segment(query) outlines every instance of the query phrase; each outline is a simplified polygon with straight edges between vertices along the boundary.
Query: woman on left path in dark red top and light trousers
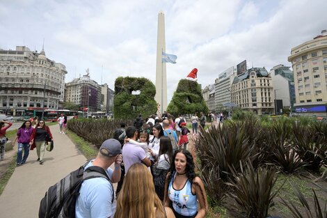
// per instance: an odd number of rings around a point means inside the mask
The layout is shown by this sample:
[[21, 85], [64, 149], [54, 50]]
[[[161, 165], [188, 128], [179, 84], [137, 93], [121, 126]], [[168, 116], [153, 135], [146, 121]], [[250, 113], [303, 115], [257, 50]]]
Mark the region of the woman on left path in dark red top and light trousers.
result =
[[38, 154], [37, 161], [39, 161], [41, 165], [43, 164], [43, 157], [45, 156], [45, 144], [47, 143], [45, 139], [47, 134], [51, 138], [51, 141], [54, 141], [50, 128], [45, 125], [45, 120], [40, 120], [31, 134], [29, 143], [31, 145], [31, 150], [36, 148], [36, 153]]

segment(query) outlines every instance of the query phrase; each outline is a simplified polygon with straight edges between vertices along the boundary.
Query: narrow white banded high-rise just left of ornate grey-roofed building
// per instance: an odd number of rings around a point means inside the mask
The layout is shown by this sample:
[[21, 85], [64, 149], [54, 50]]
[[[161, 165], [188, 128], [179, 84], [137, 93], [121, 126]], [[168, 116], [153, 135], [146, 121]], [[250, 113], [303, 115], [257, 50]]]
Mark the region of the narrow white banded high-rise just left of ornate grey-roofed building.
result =
[[[230, 67], [227, 70], [221, 72], [218, 78], [215, 80], [215, 111], [228, 111], [230, 108], [225, 105], [232, 102], [230, 95], [230, 86], [234, 73], [236, 72], [235, 67]], [[224, 105], [225, 104], [225, 105]]]

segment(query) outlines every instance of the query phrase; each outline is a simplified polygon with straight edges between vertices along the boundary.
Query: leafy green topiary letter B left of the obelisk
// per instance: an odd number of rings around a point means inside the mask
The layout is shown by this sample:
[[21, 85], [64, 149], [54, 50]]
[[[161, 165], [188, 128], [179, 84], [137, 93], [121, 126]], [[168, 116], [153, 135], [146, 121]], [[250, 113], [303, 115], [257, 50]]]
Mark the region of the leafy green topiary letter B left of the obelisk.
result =
[[115, 118], [148, 117], [157, 111], [156, 88], [152, 81], [138, 77], [118, 77], [115, 80], [113, 113]]

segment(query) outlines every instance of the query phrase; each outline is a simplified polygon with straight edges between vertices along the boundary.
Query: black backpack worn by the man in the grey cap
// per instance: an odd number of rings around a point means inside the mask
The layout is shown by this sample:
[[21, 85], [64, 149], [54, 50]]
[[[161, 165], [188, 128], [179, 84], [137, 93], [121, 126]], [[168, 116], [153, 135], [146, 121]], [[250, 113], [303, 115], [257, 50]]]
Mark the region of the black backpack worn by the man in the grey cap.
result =
[[[49, 187], [40, 202], [39, 218], [75, 217], [75, 204], [84, 180], [101, 177], [108, 180], [112, 187], [111, 180], [104, 169], [99, 166], [90, 166], [84, 171], [87, 164], [72, 171], [55, 185]], [[114, 196], [112, 196], [111, 203], [113, 203], [113, 198]]]

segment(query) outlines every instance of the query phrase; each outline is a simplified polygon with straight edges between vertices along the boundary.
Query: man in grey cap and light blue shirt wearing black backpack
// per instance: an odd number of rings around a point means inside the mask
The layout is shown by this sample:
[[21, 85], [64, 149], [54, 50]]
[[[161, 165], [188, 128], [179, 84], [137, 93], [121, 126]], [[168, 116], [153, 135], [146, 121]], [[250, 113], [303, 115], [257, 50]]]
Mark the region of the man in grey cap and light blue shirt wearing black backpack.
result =
[[[39, 218], [113, 217], [115, 196], [112, 182], [120, 180], [122, 148], [107, 139], [97, 157], [52, 185], [40, 202]], [[111, 164], [115, 163], [115, 169]]]

